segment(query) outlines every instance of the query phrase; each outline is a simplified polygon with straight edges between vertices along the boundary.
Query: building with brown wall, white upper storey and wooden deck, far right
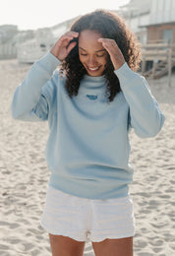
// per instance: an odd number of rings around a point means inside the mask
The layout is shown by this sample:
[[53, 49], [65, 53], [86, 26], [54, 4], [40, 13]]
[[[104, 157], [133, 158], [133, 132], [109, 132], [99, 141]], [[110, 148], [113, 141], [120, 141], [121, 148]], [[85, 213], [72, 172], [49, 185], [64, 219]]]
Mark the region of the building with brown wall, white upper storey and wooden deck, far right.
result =
[[151, 1], [149, 23], [145, 25], [147, 40], [143, 45], [142, 72], [154, 79], [165, 74], [170, 77], [175, 66], [174, 13], [174, 0]]

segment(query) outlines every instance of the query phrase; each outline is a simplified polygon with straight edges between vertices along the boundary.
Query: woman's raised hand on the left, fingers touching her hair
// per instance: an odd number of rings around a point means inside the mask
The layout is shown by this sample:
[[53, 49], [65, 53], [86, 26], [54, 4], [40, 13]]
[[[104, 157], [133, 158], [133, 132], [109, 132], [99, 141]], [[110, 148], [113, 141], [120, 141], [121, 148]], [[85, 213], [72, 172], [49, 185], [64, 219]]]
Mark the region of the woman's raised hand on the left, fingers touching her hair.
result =
[[[77, 42], [73, 41], [74, 37], [78, 37], [79, 32], [66, 32], [64, 33], [55, 45], [51, 48], [50, 52], [57, 57], [60, 61], [64, 60], [70, 51], [76, 46]], [[70, 44], [69, 44], [70, 43]]]

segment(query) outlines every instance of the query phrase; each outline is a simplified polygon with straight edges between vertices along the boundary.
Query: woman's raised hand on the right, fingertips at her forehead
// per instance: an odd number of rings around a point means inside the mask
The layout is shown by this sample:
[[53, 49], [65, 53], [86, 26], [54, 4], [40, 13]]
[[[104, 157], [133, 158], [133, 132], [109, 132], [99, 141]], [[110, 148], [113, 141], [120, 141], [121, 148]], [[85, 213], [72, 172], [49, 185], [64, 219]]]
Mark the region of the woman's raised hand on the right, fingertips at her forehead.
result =
[[119, 69], [125, 63], [125, 59], [116, 41], [108, 38], [99, 38], [98, 41], [109, 53], [114, 69]]

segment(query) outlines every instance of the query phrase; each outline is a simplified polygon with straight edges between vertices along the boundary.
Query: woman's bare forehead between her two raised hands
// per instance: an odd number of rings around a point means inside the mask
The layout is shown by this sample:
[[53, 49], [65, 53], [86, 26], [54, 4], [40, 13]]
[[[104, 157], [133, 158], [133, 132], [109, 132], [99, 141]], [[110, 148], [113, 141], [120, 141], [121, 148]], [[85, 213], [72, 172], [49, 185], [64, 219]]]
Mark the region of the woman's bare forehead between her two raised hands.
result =
[[83, 31], [79, 35], [79, 46], [85, 50], [102, 49], [102, 43], [97, 39], [102, 37], [102, 34], [94, 31]]

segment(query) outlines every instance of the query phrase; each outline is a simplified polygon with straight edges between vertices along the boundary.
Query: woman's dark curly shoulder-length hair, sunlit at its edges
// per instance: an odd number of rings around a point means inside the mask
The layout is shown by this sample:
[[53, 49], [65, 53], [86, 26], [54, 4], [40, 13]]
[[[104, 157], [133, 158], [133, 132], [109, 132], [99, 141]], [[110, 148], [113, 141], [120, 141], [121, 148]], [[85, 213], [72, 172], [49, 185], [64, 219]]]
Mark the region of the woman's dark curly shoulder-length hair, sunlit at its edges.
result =
[[[79, 18], [70, 29], [72, 32], [79, 32], [79, 34], [85, 30], [101, 33], [104, 38], [114, 39], [129, 67], [133, 71], [137, 71], [140, 68], [140, 43], [135, 33], [131, 32], [122, 17], [111, 11], [96, 10]], [[78, 38], [77, 45], [62, 62], [59, 72], [61, 76], [66, 75], [65, 88], [68, 95], [70, 97], [77, 96], [81, 80], [87, 74], [86, 68], [79, 59]], [[109, 101], [112, 101], [121, 89], [109, 54], [103, 75], [106, 79], [106, 96], [108, 96]]]

